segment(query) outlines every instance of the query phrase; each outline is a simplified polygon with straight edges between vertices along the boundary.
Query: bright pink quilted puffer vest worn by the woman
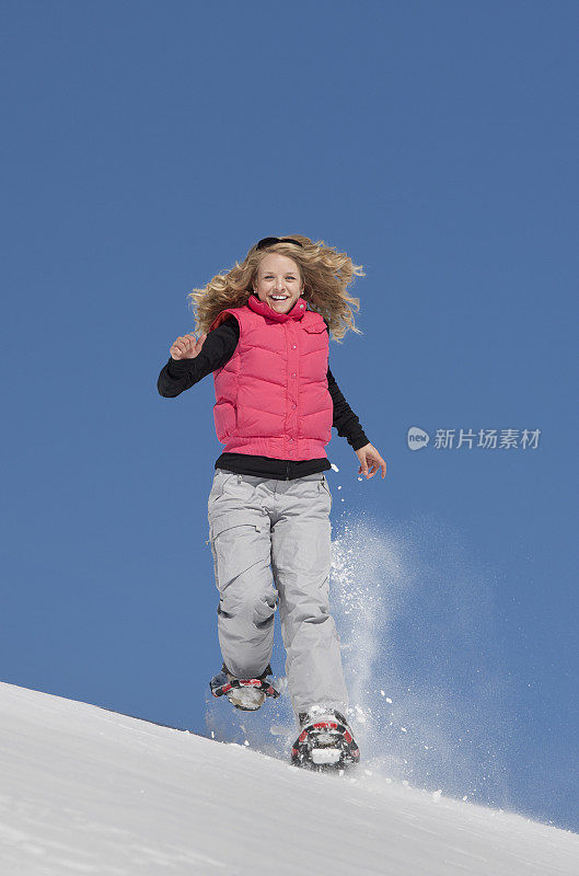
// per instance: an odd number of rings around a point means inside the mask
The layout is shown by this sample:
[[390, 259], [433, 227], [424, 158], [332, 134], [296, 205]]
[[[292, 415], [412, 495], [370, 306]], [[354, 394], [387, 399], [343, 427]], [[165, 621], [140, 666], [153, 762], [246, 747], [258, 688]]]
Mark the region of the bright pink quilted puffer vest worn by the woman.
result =
[[213, 371], [213, 418], [225, 453], [273, 459], [322, 459], [332, 438], [334, 403], [327, 389], [329, 337], [320, 313], [299, 298], [276, 313], [251, 295], [231, 314], [240, 339], [231, 359]]

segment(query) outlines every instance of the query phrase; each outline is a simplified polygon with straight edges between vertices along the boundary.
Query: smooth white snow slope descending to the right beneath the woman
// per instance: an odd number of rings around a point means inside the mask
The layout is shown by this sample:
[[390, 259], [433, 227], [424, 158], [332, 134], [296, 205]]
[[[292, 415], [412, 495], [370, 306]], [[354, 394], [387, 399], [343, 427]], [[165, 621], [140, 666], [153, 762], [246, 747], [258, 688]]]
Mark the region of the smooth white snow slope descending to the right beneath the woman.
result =
[[558, 876], [579, 835], [0, 683], [2, 876]]

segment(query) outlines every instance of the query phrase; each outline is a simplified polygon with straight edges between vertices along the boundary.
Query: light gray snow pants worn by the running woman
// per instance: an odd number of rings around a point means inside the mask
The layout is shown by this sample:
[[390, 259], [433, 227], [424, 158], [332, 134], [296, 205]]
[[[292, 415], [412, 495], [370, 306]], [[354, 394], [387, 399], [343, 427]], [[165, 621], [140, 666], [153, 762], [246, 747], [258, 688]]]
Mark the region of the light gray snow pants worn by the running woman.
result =
[[271, 659], [279, 604], [296, 716], [348, 706], [339, 636], [329, 613], [332, 494], [325, 475], [293, 481], [216, 469], [207, 504], [220, 593], [218, 636], [229, 671], [260, 676]]

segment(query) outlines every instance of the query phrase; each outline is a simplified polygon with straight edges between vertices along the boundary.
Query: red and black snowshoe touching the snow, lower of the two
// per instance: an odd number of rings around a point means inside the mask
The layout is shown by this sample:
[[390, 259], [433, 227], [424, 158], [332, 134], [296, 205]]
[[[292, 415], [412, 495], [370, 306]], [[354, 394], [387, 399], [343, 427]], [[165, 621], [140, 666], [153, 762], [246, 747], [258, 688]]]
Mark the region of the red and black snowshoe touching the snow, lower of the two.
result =
[[348, 722], [334, 708], [300, 714], [301, 731], [291, 749], [291, 762], [316, 772], [345, 770], [360, 760]]

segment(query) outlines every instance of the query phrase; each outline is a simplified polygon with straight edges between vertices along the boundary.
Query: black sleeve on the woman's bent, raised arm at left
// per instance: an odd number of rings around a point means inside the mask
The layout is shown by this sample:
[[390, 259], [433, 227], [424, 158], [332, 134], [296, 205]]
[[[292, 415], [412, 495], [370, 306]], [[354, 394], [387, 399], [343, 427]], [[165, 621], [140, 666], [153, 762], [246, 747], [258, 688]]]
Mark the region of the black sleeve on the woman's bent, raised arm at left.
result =
[[239, 339], [240, 324], [235, 316], [228, 316], [221, 325], [208, 333], [201, 351], [195, 359], [170, 357], [157, 381], [159, 394], [165, 399], [174, 399], [207, 374], [222, 368], [233, 356]]

